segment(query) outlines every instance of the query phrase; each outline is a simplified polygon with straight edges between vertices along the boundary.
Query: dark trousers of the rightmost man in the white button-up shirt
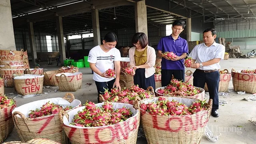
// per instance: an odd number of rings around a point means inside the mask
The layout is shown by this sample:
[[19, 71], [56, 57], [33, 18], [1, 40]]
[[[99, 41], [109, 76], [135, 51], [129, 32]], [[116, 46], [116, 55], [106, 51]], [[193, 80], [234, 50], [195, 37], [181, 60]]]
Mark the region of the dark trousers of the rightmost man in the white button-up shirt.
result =
[[196, 87], [204, 88], [205, 83], [208, 86], [210, 99], [212, 99], [212, 110], [219, 109], [219, 82], [220, 72], [204, 73], [196, 70], [193, 74], [193, 85]]

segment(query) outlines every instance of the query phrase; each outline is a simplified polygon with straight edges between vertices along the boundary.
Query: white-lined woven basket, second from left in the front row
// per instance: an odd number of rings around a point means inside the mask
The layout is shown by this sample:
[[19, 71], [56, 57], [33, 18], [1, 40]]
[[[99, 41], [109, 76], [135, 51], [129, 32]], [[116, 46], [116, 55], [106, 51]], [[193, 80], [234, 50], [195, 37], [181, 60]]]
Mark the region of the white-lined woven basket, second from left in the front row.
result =
[[75, 100], [73, 94], [66, 93], [63, 98], [48, 98], [45, 100], [38, 100], [15, 108], [12, 111], [12, 118], [22, 142], [27, 142], [33, 138], [46, 138], [61, 144], [68, 143], [66, 134], [61, 127], [58, 114], [41, 116], [38, 118], [28, 117], [29, 110], [40, 108], [48, 101], [50, 101], [50, 103], [54, 102], [55, 104], [66, 105], [71, 103], [71, 106], [73, 107], [72, 109], [81, 106], [81, 102], [79, 100]]

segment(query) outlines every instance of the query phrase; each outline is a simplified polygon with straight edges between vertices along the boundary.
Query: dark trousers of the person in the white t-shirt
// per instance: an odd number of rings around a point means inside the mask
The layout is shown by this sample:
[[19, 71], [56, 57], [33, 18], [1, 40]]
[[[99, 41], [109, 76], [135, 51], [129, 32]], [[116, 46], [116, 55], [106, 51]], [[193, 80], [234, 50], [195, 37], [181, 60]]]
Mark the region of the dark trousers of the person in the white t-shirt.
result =
[[111, 88], [113, 88], [114, 82], [116, 79], [114, 80], [110, 80], [108, 82], [96, 82], [96, 87], [97, 87], [97, 91], [98, 91], [98, 103], [100, 102], [100, 98], [99, 98], [99, 94], [104, 94], [105, 89], [108, 89], [109, 92], [111, 92]]

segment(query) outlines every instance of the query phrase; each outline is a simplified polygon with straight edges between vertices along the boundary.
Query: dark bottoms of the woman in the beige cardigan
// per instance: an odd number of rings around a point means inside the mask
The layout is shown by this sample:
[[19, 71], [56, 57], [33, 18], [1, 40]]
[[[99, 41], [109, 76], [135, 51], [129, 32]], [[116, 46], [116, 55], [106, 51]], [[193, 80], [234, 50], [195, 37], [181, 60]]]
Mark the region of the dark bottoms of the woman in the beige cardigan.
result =
[[145, 78], [145, 68], [138, 68], [133, 77], [134, 84], [139, 85], [140, 88], [146, 90], [149, 86], [156, 89], [156, 82], [154, 74], [148, 78]]

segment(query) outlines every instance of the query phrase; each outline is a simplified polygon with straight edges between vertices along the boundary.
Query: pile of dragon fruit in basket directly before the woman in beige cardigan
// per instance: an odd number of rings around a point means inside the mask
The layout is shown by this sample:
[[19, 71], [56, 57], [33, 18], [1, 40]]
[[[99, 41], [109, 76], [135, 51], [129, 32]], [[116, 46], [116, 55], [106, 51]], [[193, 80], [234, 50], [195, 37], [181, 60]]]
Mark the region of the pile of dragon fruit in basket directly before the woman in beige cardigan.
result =
[[135, 100], [136, 96], [139, 96], [141, 99], [154, 97], [150, 94], [150, 91], [139, 88], [138, 85], [134, 85], [128, 88], [124, 88], [121, 91], [118, 88], [112, 88], [111, 92], [108, 89], [105, 89], [104, 94], [102, 94], [104, 100], [110, 102], [129, 102]]

